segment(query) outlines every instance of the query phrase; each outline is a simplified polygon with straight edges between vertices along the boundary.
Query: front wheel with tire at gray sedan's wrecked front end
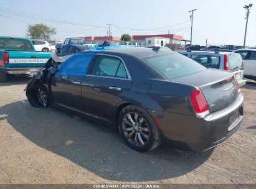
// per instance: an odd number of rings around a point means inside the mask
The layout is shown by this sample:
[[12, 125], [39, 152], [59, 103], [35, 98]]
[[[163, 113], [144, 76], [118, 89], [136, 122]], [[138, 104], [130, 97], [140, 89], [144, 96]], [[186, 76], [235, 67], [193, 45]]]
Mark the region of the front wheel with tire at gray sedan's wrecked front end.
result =
[[46, 108], [51, 104], [50, 93], [41, 83], [29, 88], [26, 93], [29, 103], [36, 108]]

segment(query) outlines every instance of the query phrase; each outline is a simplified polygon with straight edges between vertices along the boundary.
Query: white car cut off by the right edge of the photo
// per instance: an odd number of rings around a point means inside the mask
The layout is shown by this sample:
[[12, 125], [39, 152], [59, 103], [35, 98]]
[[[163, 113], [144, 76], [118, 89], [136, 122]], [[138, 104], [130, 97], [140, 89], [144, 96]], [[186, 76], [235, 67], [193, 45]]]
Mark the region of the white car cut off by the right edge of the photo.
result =
[[242, 48], [234, 52], [239, 53], [243, 59], [245, 78], [256, 81], [256, 49]]

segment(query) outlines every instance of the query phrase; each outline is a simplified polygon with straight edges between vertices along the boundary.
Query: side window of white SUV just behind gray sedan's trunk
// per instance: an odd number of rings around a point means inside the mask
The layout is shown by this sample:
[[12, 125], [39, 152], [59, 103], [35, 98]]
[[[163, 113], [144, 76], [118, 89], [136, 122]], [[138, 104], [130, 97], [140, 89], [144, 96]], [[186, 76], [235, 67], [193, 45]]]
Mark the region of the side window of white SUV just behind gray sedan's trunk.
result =
[[211, 55], [191, 55], [192, 60], [204, 65], [207, 68], [219, 69], [220, 57]]

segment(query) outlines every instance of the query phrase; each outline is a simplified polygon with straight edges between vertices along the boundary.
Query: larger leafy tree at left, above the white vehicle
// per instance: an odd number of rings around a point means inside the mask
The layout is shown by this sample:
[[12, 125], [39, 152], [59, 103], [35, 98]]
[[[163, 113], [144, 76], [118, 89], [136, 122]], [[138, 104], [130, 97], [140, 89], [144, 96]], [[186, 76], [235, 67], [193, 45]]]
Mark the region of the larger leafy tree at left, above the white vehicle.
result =
[[56, 34], [55, 28], [50, 28], [45, 24], [29, 25], [27, 27], [27, 36], [31, 39], [49, 40], [52, 35]]

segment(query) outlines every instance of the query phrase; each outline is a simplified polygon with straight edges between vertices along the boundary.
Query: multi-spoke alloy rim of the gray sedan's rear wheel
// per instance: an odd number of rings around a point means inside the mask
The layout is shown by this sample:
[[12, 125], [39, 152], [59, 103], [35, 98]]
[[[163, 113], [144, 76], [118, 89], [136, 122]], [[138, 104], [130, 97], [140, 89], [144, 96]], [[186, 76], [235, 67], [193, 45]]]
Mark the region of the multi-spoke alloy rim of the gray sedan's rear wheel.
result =
[[123, 134], [133, 145], [142, 147], [149, 141], [150, 131], [146, 120], [138, 113], [126, 113], [122, 121]]

